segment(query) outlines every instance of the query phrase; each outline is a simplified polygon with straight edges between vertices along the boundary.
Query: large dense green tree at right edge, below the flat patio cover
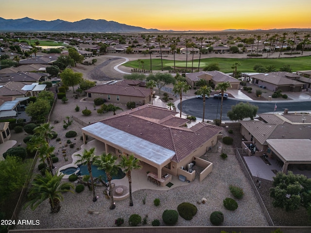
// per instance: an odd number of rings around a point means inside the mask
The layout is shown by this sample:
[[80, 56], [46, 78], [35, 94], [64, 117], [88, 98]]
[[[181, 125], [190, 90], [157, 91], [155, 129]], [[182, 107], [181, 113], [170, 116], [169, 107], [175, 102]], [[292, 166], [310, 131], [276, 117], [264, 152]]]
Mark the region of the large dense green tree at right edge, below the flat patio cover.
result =
[[270, 197], [274, 207], [292, 211], [300, 205], [308, 207], [311, 202], [311, 179], [304, 175], [294, 175], [292, 171], [288, 171], [287, 175], [278, 172], [273, 177], [273, 186]]

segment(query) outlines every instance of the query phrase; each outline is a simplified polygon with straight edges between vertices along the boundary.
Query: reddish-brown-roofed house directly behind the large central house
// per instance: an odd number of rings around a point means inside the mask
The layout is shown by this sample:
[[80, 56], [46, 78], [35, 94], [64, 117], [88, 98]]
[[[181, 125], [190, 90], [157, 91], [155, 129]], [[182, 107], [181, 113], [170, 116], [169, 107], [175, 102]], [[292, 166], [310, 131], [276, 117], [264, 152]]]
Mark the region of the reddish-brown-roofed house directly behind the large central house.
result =
[[103, 98], [107, 102], [127, 103], [133, 101], [139, 105], [151, 101], [151, 92], [142, 81], [121, 80], [97, 85], [87, 89], [88, 99]]

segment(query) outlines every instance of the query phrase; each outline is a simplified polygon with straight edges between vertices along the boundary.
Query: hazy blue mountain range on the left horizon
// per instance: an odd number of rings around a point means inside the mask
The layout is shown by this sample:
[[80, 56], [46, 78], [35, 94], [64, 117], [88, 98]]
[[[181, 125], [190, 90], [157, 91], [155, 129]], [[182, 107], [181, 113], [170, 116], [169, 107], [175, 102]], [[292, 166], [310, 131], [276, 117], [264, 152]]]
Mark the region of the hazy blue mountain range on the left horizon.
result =
[[130, 26], [104, 19], [83, 19], [68, 22], [61, 19], [52, 21], [36, 20], [29, 17], [4, 19], [0, 17], [0, 31], [5, 32], [87, 32], [87, 33], [121, 33], [121, 32], [159, 32], [157, 29], [146, 29]]

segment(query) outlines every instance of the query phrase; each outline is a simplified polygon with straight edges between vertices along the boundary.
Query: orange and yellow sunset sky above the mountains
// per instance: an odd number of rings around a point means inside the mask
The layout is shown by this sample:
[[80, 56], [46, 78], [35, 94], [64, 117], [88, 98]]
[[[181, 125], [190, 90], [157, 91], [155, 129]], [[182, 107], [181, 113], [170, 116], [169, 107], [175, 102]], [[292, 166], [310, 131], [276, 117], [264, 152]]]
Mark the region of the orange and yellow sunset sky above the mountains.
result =
[[174, 31], [311, 28], [311, 0], [6, 0], [0, 17], [105, 19]]

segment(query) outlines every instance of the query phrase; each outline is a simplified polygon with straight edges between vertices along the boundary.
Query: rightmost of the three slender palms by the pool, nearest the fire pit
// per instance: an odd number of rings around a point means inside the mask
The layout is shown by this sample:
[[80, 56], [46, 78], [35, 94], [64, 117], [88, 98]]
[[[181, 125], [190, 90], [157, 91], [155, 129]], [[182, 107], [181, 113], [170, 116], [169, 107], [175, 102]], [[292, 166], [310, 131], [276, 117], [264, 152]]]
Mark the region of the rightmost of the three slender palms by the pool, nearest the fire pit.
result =
[[133, 154], [121, 157], [121, 162], [119, 164], [122, 168], [124, 168], [123, 172], [127, 174], [128, 177], [128, 186], [130, 192], [130, 206], [133, 206], [133, 199], [132, 199], [132, 170], [133, 169], [141, 169], [142, 166], [139, 165], [139, 159], [135, 158]]

